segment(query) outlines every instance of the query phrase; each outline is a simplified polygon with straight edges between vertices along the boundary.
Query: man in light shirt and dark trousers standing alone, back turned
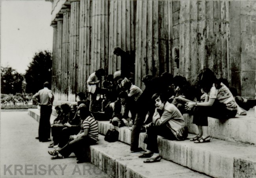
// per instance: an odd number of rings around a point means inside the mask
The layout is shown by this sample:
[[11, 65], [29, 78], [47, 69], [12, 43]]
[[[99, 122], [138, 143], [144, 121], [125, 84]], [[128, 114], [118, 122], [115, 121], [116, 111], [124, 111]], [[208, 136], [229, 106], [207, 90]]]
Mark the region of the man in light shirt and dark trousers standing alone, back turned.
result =
[[37, 99], [39, 101], [40, 109], [40, 121], [39, 121], [39, 129], [38, 129], [38, 137], [39, 141], [46, 142], [50, 140], [50, 116], [52, 114], [52, 103], [54, 100], [54, 95], [52, 91], [48, 89], [48, 82], [44, 83], [44, 88], [39, 90], [36, 94], [33, 95], [33, 99]]

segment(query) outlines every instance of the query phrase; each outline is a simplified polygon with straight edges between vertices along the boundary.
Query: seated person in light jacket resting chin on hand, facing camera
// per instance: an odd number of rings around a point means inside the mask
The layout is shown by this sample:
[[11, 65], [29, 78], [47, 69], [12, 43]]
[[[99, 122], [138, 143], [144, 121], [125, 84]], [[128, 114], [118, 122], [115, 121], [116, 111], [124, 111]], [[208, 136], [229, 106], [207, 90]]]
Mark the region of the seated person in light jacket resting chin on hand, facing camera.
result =
[[164, 101], [160, 94], [154, 94], [152, 100], [156, 109], [153, 122], [147, 129], [147, 137], [144, 143], [147, 144], [147, 151], [139, 158], [149, 158], [144, 163], [152, 163], [161, 160], [158, 150], [157, 136], [162, 136], [169, 140], [184, 140], [187, 138], [187, 127], [184, 117], [173, 104]]

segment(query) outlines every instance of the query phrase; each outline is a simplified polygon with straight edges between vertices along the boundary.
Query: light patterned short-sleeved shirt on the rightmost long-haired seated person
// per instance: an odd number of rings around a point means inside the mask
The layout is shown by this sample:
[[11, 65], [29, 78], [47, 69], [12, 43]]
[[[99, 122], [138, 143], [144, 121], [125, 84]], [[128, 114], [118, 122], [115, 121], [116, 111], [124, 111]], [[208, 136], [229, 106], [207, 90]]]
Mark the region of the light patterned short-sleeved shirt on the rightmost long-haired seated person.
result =
[[215, 87], [215, 84], [211, 87], [210, 93], [209, 93], [209, 99], [217, 99], [220, 103], [224, 103], [226, 105], [226, 108], [229, 110], [236, 110], [236, 101], [234, 99], [234, 96], [223, 83], [221, 83], [221, 88], [217, 89]]

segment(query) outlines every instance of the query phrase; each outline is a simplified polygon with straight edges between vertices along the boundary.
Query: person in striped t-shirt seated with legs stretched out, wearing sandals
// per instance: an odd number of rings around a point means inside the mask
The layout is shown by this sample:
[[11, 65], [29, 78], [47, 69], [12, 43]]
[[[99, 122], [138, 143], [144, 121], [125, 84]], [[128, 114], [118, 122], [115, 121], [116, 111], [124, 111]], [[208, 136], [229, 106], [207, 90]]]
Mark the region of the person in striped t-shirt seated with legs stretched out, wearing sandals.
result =
[[98, 140], [98, 123], [91, 116], [89, 109], [84, 105], [78, 106], [78, 116], [83, 120], [81, 131], [77, 135], [70, 136], [70, 141], [60, 150], [48, 151], [53, 159], [67, 158], [74, 152], [77, 163], [83, 163], [86, 158], [83, 154], [84, 147], [94, 145]]

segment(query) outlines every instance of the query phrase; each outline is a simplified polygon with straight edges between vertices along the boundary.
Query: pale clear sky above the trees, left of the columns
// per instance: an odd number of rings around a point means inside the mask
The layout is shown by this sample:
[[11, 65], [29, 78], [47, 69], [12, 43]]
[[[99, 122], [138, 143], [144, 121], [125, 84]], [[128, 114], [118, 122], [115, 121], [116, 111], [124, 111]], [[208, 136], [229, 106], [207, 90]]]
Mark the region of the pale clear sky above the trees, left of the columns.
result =
[[26, 73], [35, 53], [52, 51], [51, 11], [45, 0], [2, 0], [1, 66]]

